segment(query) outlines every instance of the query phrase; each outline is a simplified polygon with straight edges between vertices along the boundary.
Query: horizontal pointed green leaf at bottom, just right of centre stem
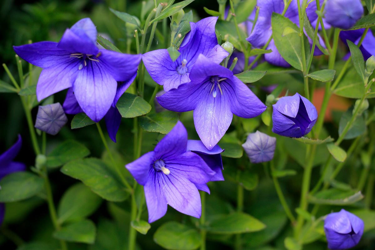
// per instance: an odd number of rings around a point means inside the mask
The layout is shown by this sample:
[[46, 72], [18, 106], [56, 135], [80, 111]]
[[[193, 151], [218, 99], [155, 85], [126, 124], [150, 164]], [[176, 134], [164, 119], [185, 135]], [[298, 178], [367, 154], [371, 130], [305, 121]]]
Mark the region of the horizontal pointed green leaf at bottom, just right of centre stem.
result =
[[265, 227], [266, 225], [249, 214], [236, 212], [222, 215], [212, 221], [207, 226], [207, 231], [214, 234], [243, 234], [261, 231]]

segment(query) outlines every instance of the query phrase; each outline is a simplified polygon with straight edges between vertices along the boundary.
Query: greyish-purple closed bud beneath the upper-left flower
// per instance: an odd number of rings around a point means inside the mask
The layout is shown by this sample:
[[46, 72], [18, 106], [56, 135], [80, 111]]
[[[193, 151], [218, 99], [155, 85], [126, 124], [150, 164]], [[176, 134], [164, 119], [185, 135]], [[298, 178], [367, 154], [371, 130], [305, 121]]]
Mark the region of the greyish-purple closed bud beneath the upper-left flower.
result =
[[56, 135], [67, 121], [63, 107], [57, 102], [39, 106], [35, 127], [50, 135]]

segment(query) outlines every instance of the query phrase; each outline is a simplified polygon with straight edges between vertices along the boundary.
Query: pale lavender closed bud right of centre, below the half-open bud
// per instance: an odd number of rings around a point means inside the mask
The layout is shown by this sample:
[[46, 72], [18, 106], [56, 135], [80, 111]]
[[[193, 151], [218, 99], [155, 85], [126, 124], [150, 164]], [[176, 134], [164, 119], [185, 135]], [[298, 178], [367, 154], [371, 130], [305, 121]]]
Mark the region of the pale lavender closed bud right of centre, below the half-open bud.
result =
[[276, 138], [257, 130], [248, 135], [242, 147], [251, 163], [269, 162], [275, 153]]

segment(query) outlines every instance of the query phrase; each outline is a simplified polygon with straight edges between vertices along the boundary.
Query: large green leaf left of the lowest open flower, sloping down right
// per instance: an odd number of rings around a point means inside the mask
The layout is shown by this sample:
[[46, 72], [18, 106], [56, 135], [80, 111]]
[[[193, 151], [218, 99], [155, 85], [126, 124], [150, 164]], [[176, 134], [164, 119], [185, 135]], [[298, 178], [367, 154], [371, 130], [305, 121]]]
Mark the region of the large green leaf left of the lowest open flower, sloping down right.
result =
[[108, 201], [124, 201], [129, 196], [125, 187], [99, 159], [86, 158], [65, 164], [61, 172], [81, 180], [86, 186]]

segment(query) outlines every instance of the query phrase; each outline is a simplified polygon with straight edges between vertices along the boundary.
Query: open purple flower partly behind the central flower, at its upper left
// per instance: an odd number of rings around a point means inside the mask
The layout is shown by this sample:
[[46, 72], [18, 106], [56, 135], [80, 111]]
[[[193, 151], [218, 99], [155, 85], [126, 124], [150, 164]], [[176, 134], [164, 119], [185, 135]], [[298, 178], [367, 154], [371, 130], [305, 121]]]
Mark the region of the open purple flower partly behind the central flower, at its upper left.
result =
[[215, 34], [217, 16], [211, 16], [197, 23], [190, 22], [190, 32], [181, 43], [177, 60], [172, 61], [166, 49], [157, 49], [142, 55], [144, 66], [157, 84], [168, 92], [180, 84], [189, 82], [189, 73], [199, 54], [219, 64], [228, 52], [219, 44]]

